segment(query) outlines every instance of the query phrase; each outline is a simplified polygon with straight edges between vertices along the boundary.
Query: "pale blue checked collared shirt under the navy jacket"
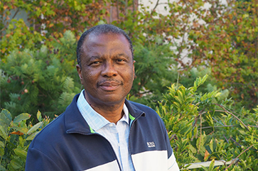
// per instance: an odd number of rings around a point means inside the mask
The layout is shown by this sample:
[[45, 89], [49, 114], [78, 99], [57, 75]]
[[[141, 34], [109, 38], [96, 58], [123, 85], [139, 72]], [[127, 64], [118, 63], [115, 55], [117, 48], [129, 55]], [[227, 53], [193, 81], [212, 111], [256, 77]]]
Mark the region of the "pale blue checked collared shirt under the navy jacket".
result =
[[134, 166], [129, 155], [128, 139], [129, 139], [129, 111], [124, 104], [124, 116], [115, 123], [110, 123], [106, 118], [97, 113], [84, 96], [84, 90], [80, 92], [77, 100], [77, 107], [90, 128], [96, 133], [104, 136], [111, 143], [114, 153], [117, 155], [119, 165], [123, 171], [133, 170]]

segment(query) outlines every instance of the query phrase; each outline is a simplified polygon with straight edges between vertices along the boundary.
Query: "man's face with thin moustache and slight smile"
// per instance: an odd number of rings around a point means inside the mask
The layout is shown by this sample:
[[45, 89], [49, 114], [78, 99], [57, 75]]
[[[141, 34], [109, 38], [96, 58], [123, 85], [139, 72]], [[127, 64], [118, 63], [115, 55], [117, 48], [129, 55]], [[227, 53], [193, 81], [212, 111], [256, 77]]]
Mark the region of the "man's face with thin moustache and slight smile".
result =
[[124, 102], [134, 80], [134, 60], [129, 47], [124, 35], [88, 35], [77, 72], [90, 104]]

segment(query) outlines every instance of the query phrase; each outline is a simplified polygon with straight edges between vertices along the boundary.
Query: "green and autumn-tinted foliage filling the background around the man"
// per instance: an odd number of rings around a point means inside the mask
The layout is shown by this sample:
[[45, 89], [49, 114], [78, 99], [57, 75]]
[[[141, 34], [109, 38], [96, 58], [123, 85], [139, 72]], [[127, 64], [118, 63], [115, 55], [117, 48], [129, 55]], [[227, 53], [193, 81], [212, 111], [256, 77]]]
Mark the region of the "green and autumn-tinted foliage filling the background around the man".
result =
[[[1, 169], [23, 168], [28, 130], [40, 131], [42, 118], [46, 124], [61, 114], [82, 89], [75, 69], [80, 34], [112, 23], [134, 43], [128, 99], [161, 115], [181, 168], [239, 158], [227, 169], [256, 170], [258, 3], [226, 2], [167, 1], [165, 16], [156, 12], [159, 1], [154, 9], [132, 0], [1, 1]], [[16, 19], [19, 11], [29, 24]]]

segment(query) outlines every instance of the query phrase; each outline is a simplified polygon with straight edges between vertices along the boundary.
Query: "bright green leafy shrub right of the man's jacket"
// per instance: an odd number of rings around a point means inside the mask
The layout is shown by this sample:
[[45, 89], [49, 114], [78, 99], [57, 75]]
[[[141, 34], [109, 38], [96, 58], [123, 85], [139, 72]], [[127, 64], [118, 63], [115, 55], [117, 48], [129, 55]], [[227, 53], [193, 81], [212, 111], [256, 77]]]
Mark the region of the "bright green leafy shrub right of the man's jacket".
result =
[[206, 78], [196, 79], [190, 88], [173, 84], [156, 107], [178, 165], [184, 168], [191, 162], [238, 158], [240, 162], [228, 170], [257, 170], [258, 106], [253, 114], [245, 109], [239, 114], [227, 109], [231, 100], [220, 98], [220, 92], [197, 92]]

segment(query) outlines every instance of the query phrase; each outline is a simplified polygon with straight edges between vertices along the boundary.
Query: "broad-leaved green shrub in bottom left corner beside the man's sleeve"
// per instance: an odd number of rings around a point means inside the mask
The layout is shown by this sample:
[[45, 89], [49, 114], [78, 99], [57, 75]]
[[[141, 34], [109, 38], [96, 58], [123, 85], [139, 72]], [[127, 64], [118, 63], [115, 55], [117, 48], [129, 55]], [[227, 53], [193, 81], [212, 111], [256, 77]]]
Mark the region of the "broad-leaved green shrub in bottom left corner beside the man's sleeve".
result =
[[50, 122], [50, 118], [42, 118], [40, 111], [36, 116], [38, 123], [33, 125], [29, 122], [30, 114], [23, 113], [12, 119], [11, 113], [2, 109], [0, 113], [0, 170], [24, 170], [28, 145]]

